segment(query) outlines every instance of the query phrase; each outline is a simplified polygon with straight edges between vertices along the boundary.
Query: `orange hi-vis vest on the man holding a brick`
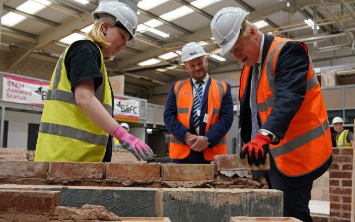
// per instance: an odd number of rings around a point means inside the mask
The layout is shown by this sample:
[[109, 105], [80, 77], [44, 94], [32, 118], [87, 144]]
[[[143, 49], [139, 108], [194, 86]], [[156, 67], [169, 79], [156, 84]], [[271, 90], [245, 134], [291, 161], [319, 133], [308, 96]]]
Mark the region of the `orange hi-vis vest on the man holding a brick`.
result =
[[[261, 124], [270, 115], [275, 102], [275, 70], [281, 48], [290, 39], [274, 37], [261, 69], [257, 106]], [[300, 44], [308, 55], [307, 45]], [[244, 66], [240, 78], [239, 99], [243, 98], [250, 66]], [[272, 131], [272, 130], [271, 130]], [[270, 145], [270, 153], [280, 173], [298, 177], [321, 167], [332, 154], [328, 115], [320, 85], [309, 57], [306, 97], [277, 145]]]

